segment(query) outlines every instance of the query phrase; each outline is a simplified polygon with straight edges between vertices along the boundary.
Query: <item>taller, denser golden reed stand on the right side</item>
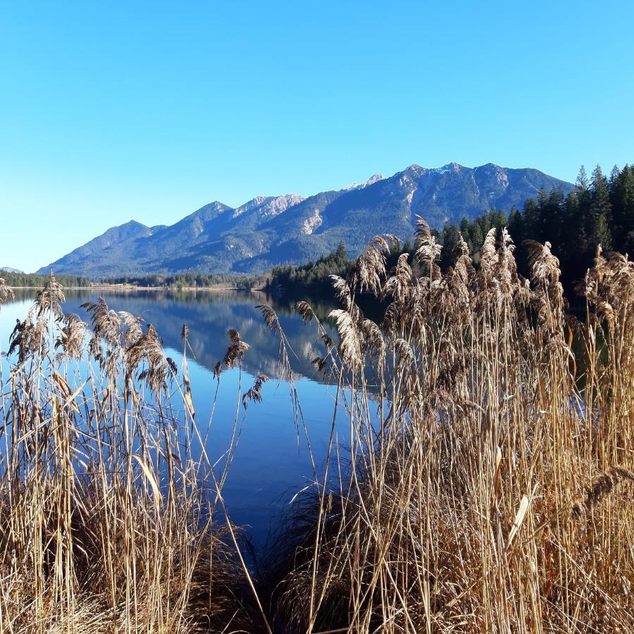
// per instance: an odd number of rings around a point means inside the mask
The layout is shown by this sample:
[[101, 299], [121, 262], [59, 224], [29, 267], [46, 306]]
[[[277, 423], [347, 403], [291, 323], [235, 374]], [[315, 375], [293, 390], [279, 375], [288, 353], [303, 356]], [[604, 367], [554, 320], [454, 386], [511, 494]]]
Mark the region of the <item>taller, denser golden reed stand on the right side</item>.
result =
[[[418, 278], [407, 254], [385, 270], [388, 246], [333, 278], [336, 347], [317, 321], [352, 459], [332, 445], [296, 502], [278, 618], [297, 632], [634, 631], [633, 263], [599, 252], [577, 318], [548, 243], [528, 245], [530, 280], [506, 230], [477, 270], [461, 244], [442, 273], [419, 220]], [[383, 323], [361, 292], [387, 302]]]

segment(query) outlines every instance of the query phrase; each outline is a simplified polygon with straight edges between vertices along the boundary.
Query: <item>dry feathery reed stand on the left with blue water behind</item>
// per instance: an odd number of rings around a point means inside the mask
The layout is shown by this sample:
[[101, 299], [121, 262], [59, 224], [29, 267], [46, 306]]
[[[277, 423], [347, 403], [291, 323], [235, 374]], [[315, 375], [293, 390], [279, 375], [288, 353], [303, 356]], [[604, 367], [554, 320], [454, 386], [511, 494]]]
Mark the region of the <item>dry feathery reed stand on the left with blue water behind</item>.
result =
[[90, 323], [63, 300], [51, 274], [0, 368], [0, 632], [248, 631], [186, 361], [102, 299]]

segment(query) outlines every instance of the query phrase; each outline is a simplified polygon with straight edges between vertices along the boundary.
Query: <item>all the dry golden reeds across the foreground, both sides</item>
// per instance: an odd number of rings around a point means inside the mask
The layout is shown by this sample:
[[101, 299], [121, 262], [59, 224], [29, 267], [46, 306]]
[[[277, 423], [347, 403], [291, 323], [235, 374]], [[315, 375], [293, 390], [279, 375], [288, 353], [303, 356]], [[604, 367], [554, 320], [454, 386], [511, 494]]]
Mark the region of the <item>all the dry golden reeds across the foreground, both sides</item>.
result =
[[[336, 344], [297, 304], [337, 399], [325, 468], [259, 580], [216, 522], [235, 444], [218, 475], [187, 362], [103, 302], [90, 327], [63, 316], [51, 278], [1, 381], [0, 631], [633, 631], [633, 263], [599, 251], [578, 318], [548, 243], [529, 245], [530, 280], [505, 230], [477, 270], [459, 244], [442, 273], [421, 220], [416, 278], [406, 254], [385, 270], [392, 240], [333, 278]], [[383, 323], [361, 292], [387, 302]], [[230, 331], [218, 376], [245, 352]]]

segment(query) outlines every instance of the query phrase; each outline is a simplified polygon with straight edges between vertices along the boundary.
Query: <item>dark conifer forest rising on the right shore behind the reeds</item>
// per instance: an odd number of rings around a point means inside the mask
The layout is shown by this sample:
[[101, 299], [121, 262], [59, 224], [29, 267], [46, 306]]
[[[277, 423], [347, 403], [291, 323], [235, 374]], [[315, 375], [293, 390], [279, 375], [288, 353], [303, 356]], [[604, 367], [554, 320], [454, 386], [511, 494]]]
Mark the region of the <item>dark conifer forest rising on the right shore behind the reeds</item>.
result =
[[[443, 249], [440, 266], [446, 269], [452, 263], [455, 247], [460, 237], [468, 245], [475, 266], [480, 261], [480, 249], [490, 229], [506, 227], [517, 251], [520, 273], [528, 276], [528, 251], [526, 240], [550, 242], [553, 253], [561, 263], [562, 281], [570, 291], [577, 280], [583, 278], [601, 245], [604, 251], [621, 251], [634, 256], [634, 166], [622, 170], [614, 168], [606, 177], [597, 166], [588, 178], [582, 167], [576, 189], [568, 196], [553, 189], [542, 190], [536, 199], [529, 199], [523, 211], [511, 209], [489, 211], [480, 218], [464, 218], [460, 225], [445, 225], [442, 231], [433, 231]], [[398, 256], [411, 254], [409, 263], [416, 268], [414, 242], [407, 239], [395, 245], [387, 258], [388, 268], [394, 266]], [[275, 267], [271, 271], [271, 286], [287, 290], [310, 287], [328, 290], [328, 275], [344, 277], [353, 261], [348, 259], [344, 244], [328, 256], [303, 266]], [[420, 273], [420, 272], [419, 272]]]

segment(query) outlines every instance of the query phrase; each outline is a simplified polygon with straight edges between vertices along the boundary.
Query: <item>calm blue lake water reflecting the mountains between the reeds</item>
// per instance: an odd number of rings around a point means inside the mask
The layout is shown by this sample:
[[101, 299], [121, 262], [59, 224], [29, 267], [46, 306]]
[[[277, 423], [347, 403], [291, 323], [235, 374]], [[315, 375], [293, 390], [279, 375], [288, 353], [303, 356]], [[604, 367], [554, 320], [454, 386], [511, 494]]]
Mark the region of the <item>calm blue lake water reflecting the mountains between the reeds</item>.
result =
[[[312, 467], [306, 440], [297, 439], [289, 385], [280, 363], [280, 340], [269, 332], [257, 304], [267, 303], [278, 313], [282, 329], [294, 354], [290, 354], [295, 386], [309, 431], [311, 448], [318, 467], [323, 467], [332, 424], [336, 386], [324, 383], [311, 360], [323, 354], [316, 344], [316, 326], [306, 324], [292, 310], [290, 299], [273, 299], [256, 292], [66, 292], [65, 312], [73, 312], [88, 321], [80, 304], [97, 301], [101, 295], [116, 311], [140, 315], [155, 326], [161, 335], [166, 354], [178, 366], [182, 360], [182, 325], [189, 326], [189, 374], [194, 394], [197, 421], [206, 426], [209, 420], [216, 380], [213, 368], [223, 359], [228, 347], [227, 330], [235, 328], [250, 345], [240, 371], [223, 371], [218, 402], [207, 443], [210, 458], [218, 457], [228, 446], [235, 419], [237, 399], [253, 384], [256, 373], [271, 378], [262, 389], [263, 401], [251, 403], [244, 430], [223, 491], [234, 523], [248, 527], [252, 540], [262, 546], [280, 512], [297, 490], [312, 480]], [[35, 290], [18, 290], [15, 302], [0, 309], [0, 341], [6, 351], [16, 319], [25, 318]], [[331, 306], [312, 303], [319, 316]], [[336, 340], [335, 332], [330, 335]], [[242, 409], [242, 405], [240, 405]], [[242, 413], [241, 413], [242, 416]], [[337, 438], [348, 445], [345, 421], [337, 422]]]

